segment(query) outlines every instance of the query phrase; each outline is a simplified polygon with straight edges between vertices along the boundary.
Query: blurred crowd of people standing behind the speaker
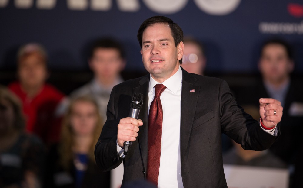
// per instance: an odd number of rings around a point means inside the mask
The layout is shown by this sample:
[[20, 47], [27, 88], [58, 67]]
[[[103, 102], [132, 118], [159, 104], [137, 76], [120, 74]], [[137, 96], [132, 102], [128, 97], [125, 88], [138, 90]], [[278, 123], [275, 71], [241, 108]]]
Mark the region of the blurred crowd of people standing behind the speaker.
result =
[[[181, 66], [204, 75], [204, 46], [191, 37], [185, 37], [184, 44]], [[18, 80], [0, 87], [0, 187], [110, 187], [111, 174], [98, 169], [94, 149], [112, 88], [124, 81], [126, 59], [122, 45], [112, 38], [95, 40], [89, 51], [93, 79], [66, 96], [47, 83], [48, 55], [41, 44], [25, 44], [18, 50]], [[295, 63], [291, 46], [277, 38], [265, 41], [256, 63], [259, 82], [234, 96], [257, 120], [259, 98], [281, 101], [281, 136], [265, 151], [244, 150], [222, 136], [223, 162], [287, 169], [289, 187], [300, 187], [303, 88], [302, 82], [291, 79]]]

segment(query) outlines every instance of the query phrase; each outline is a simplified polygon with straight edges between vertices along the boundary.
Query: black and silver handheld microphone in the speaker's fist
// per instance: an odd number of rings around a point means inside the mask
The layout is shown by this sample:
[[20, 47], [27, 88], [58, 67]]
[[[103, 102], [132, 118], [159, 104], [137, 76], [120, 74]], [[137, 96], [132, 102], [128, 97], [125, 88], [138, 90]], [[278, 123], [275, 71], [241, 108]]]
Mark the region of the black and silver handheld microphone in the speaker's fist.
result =
[[[129, 111], [128, 117], [138, 119], [138, 115], [140, 109], [143, 104], [143, 94], [142, 93], [134, 93], [131, 100], [131, 109]], [[132, 145], [132, 141], [125, 141], [124, 145], [124, 155], [127, 155], [129, 148]]]

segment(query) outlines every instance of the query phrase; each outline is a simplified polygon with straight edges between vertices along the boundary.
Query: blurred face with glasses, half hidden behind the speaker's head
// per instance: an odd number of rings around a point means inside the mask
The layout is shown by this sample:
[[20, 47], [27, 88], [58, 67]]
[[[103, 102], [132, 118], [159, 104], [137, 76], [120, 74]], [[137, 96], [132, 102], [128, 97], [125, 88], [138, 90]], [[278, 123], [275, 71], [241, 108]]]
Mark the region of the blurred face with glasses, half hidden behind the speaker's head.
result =
[[206, 60], [198, 45], [185, 42], [181, 66], [189, 73], [203, 75]]

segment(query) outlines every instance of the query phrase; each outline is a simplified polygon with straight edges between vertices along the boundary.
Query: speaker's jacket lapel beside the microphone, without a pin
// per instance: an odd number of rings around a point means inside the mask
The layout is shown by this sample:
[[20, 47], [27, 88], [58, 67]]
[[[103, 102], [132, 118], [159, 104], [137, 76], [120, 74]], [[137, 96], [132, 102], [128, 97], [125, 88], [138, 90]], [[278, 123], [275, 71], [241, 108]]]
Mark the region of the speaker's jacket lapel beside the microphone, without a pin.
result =
[[148, 86], [149, 86], [149, 74], [144, 76], [139, 81], [140, 86], [135, 87], [133, 89], [133, 93], [142, 93], [143, 98], [143, 105], [140, 110], [138, 119], [141, 119], [143, 122], [143, 125], [140, 127], [140, 130], [138, 132], [138, 138], [139, 138], [139, 144], [141, 146], [142, 151], [142, 157], [144, 161], [144, 167], [147, 169], [147, 154], [148, 154]]

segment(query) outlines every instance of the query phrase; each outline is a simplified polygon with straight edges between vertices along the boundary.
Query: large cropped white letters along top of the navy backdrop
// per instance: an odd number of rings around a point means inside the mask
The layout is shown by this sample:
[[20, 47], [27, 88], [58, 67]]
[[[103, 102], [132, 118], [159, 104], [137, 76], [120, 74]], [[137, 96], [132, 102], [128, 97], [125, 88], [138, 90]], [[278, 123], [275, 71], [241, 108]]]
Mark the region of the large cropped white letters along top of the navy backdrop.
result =
[[[16, 8], [29, 9], [34, 6], [34, 0], [11, 0]], [[109, 11], [112, 8], [113, 0], [66, 0], [70, 10], [83, 11], [90, 8], [93, 11]], [[123, 12], [137, 12], [140, 10], [139, 0], [115, 0], [118, 9]], [[241, 0], [193, 0], [197, 7], [210, 15], [227, 15], [234, 11]], [[5, 8], [9, 0], [0, 0], [0, 8]], [[182, 10], [188, 0], [142, 0], [151, 10], [160, 14], [174, 14]], [[36, 8], [53, 9], [57, 0], [36, 0]]]

